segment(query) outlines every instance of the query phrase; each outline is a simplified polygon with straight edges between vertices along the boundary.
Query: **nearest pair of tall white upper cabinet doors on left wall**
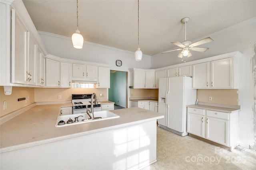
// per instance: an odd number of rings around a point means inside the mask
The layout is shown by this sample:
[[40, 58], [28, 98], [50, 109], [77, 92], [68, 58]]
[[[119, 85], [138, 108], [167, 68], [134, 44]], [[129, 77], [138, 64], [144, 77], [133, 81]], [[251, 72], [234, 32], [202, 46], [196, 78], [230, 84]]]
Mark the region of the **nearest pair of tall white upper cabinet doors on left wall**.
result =
[[37, 43], [12, 9], [12, 83], [36, 85]]

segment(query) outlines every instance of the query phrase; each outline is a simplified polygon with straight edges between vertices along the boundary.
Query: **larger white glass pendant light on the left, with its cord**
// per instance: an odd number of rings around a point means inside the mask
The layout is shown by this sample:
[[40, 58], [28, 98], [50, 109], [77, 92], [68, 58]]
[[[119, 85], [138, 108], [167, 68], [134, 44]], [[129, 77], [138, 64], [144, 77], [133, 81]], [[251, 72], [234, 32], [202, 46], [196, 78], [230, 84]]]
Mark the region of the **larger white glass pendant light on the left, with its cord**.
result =
[[82, 49], [84, 45], [84, 38], [78, 30], [78, 0], [76, 0], [76, 32], [72, 35], [72, 43], [76, 49]]

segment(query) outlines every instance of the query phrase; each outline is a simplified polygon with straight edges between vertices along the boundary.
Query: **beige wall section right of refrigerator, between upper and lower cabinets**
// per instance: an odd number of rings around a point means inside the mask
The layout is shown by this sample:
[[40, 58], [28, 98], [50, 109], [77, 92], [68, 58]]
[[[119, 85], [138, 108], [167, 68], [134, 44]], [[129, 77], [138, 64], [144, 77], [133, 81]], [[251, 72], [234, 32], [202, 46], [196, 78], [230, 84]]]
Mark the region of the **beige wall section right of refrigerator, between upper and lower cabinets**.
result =
[[[198, 89], [198, 102], [238, 105], [238, 89]], [[208, 98], [212, 97], [212, 101]]]

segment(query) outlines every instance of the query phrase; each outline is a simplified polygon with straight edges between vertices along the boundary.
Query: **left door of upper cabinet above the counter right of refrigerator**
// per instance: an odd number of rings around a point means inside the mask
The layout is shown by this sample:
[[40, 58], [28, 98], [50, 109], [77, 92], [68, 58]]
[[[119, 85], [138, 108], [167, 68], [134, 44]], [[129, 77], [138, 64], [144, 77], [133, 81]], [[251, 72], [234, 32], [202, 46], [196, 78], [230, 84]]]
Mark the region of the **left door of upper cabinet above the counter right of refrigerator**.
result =
[[193, 88], [209, 88], [209, 62], [193, 65]]

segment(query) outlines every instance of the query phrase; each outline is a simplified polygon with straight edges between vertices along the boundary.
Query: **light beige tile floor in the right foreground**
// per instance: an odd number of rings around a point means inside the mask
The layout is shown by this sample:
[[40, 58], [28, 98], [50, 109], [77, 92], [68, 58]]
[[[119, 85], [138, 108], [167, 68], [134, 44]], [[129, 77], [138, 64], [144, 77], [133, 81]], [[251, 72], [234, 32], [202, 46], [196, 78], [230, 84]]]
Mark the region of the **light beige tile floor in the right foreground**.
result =
[[[242, 147], [240, 147], [242, 148]], [[190, 136], [181, 137], [157, 127], [157, 162], [143, 170], [256, 170], [256, 151], [232, 152]]]

